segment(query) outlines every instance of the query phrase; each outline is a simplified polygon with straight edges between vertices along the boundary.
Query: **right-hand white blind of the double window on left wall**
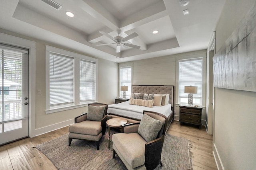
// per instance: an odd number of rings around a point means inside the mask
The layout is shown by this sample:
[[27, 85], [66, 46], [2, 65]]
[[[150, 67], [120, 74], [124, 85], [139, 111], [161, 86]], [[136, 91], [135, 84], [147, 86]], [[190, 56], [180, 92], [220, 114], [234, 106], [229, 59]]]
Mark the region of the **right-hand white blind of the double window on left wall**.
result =
[[96, 100], [96, 63], [80, 60], [80, 102]]

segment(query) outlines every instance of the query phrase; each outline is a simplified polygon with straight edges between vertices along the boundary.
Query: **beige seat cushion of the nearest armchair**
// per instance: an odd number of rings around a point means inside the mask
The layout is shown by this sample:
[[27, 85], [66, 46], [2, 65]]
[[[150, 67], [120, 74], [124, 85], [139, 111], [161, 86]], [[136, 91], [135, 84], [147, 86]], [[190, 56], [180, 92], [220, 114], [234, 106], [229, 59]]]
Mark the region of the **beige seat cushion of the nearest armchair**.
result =
[[132, 168], [144, 165], [147, 142], [138, 133], [116, 133], [112, 142]]

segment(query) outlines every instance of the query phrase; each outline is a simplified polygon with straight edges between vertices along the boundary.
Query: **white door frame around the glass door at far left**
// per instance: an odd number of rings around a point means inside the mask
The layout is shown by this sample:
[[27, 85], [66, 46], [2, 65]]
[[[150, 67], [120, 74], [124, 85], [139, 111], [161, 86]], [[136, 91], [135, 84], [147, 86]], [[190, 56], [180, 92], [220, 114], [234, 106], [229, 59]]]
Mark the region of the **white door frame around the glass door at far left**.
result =
[[28, 54], [28, 135], [36, 133], [36, 42], [0, 33], [0, 42], [29, 49]]

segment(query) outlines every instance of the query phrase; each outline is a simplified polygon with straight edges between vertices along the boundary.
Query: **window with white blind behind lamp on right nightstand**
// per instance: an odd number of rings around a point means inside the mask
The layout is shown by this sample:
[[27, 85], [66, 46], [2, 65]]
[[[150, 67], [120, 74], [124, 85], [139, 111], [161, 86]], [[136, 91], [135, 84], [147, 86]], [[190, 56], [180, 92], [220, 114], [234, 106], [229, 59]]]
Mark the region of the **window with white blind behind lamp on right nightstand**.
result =
[[179, 60], [179, 103], [188, 104], [188, 94], [184, 86], [197, 86], [197, 94], [193, 94], [193, 104], [202, 105], [202, 58]]

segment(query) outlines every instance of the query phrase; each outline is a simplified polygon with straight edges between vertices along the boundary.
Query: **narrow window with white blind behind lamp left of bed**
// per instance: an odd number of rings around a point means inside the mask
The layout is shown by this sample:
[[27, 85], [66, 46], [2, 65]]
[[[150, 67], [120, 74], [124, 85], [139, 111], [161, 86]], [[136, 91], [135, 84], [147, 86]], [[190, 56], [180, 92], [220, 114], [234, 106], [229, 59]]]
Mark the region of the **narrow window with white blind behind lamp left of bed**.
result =
[[[128, 86], [128, 91], [126, 92], [126, 97], [130, 97], [132, 93], [132, 67], [120, 67], [120, 86]], [[119, 87], [120, 88], [120, 87]], [[122, 96], [123, 92], [120, 91]]]

